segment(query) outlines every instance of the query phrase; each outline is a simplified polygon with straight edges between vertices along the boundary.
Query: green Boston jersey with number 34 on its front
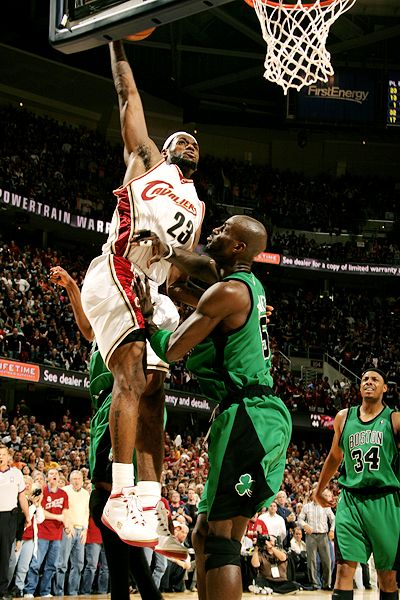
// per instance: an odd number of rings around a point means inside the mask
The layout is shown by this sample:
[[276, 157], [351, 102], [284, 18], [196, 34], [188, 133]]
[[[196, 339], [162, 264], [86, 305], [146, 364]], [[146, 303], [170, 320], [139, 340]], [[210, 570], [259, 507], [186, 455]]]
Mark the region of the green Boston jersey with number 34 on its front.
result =
[[385, 406], [371, 421], [360, 419], [360, 407], [349, 408], [339, 445], [344, 461], [339, 484], [373, 493], [373, 488], [400, 489], [399, 449], [393, 433], [392, 411]]

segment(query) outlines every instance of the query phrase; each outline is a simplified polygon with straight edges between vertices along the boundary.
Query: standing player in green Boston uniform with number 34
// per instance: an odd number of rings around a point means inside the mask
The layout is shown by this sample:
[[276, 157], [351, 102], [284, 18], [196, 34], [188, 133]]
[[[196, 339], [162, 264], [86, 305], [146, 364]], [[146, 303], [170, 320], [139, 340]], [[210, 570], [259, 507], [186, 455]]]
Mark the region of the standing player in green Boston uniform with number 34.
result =
[[400, 413], [384, 404], [386, 391], [386, 377], [379, 369], [370, 367], [362, 374], [362, 404], [336, 415], [335, 436], [316, 490], [316, 501], [332, 506], [322, 494], [343, 461], [335, 523], [335, 600], [353, 598], [357, 563], [366, 563], [371, 554], [381, 600], [398, 598]]

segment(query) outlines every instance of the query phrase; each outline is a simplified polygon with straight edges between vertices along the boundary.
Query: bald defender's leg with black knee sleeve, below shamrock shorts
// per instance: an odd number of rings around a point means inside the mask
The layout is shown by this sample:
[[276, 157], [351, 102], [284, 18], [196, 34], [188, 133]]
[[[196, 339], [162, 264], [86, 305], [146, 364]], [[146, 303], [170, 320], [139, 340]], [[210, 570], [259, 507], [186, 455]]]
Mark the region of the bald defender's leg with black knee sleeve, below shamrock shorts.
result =
[[204, 546], [207, 600], [240, 600], [242, 597], [240, 550], [248, 520], [248, 517], [233, 517], [209, 521]]

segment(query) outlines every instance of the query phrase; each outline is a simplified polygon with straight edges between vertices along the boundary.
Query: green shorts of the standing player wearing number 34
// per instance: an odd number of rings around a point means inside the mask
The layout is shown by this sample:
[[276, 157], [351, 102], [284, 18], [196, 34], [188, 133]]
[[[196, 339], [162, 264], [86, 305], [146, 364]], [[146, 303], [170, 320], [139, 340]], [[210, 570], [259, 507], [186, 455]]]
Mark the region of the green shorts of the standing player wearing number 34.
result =
[[400, 492], [361, 494], [343, 489], [336, 509], [338, 560], [368, 562], [379, 571], [400, 567]]

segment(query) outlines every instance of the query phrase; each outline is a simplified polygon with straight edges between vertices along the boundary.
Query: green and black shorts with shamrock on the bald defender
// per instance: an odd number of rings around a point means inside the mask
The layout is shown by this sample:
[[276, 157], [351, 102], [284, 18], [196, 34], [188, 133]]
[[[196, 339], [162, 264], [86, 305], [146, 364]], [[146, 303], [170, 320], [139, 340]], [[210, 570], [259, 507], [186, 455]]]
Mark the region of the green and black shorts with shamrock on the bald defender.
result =
[[280, 398], [244, 398], [214, 421], [210, 470], [199, 504], [209, 521], [252, 517], [282, 483], [292, 420]]

